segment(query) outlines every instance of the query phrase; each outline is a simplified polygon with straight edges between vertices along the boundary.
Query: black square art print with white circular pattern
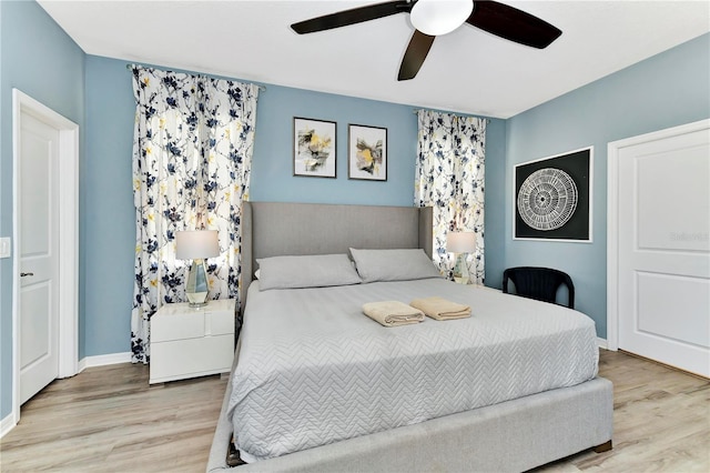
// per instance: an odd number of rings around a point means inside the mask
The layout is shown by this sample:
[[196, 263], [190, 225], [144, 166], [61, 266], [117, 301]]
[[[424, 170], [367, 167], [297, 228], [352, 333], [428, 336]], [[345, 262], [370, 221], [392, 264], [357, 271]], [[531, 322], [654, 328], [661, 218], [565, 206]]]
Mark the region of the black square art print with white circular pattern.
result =
[[592, 147], [515, 167], [514, 240], [591, 242]]

